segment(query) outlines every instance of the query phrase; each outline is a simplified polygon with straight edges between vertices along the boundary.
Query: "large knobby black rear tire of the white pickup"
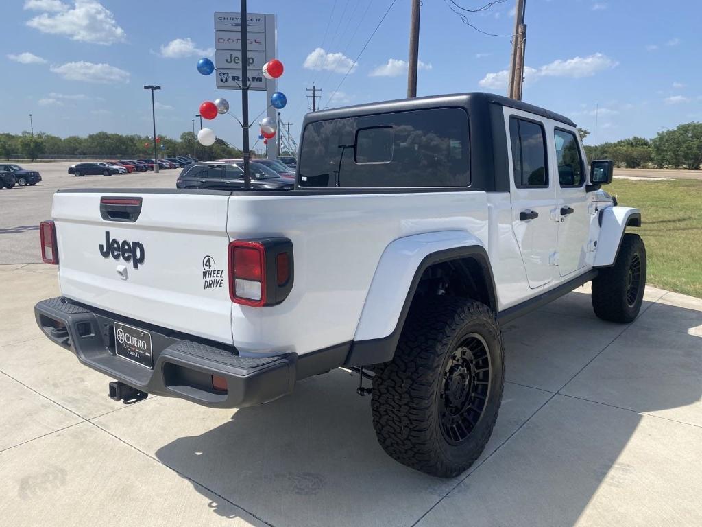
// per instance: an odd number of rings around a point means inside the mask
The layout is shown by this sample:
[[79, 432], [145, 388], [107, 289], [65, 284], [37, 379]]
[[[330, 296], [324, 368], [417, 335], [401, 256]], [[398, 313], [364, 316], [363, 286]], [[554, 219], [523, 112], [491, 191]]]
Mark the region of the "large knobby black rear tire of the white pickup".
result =
[[[463, 393], [465, 386], [472, 386], [468, 389], [470, 403], [480, 401], [472, 393], [482, 390], [484, 406], [479, 417], [471, 416], [475, 417], [474, 427], [470, 431], [463, 427], [467, 435], [462, 442], [452, 442], [444, 429], [446, 405], [450, 402], [446, 392], [453, 393], [453, 384], [446, 384], [446, 368], [461, 364], [455, 358], [461, 350], [468, 349], [463, 346], [468, 341], [486, 344], [482, 364], [486, 357], [489, 370], [480, 374], [485, 375], [480, 380], [472, 378], [470, 384], [465, 383]], [[502, 334], [495, 313], [488, 306], [452, 297], [413, 306], [395, 357], [376, 366], [371, 408], [378, 442], [385, 453], [408, 467], [432, 476], [457, 476], [475, 462], [490, 438], [504, 379]]]

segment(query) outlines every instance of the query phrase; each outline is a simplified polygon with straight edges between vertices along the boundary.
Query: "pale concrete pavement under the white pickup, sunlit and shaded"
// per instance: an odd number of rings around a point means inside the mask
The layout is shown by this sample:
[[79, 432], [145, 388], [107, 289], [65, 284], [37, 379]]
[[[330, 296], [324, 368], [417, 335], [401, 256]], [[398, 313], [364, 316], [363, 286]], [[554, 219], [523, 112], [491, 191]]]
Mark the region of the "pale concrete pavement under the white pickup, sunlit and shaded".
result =
[[41, 336], [55, 268], [0, 266], [0, 518], [12, 526], [702, 524], [702, 300], [648, 288], [630, 325], [582, 287], [504, 327], [485, 453], [442, 480], [376, 443], [345, 370], [256, 408], [107, 398]]

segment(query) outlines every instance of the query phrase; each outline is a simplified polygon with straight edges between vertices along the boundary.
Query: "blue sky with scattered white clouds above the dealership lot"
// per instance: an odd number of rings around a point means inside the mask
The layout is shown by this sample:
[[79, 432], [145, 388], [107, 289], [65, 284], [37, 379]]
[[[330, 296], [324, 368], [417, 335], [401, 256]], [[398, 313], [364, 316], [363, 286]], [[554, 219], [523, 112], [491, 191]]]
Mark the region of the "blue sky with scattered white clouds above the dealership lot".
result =
[[[406, 94], [409, 0], [396, 0], [357, 65], [333, 91], [392, 0], [249, 0], [249, 11], [278, 17], [279, 90], [293, 136], [309, 101], [322, 106], [402, 98]], [[478, 8], [487, 0], [455, 0]], [[423, 0], [418, 95], [505, 93], [510, 39], [465, 25], [451, 0]], [[480, 30], [510, 34], [514, 0], [468, 15]], [[203, 100], [227, 98], [240, 115], [237, 91], [218, 91], [197, 59], [213, 47], [213, 11], [237, 11], [238, 1], [3, 0], [0, 131], [29, 129], [59, 136], [95, 131], [150, 134], [150, 96], [160, 84], [157, 131], [179, 136]], [[343, 16], [342, 16], [343, 15]], [[668, 0], [527, 0], [527, 82], [524, 100], [568, 115], [598, 140], [653, 137], [665, 127], [702, 121], [702, 2]], [[326, 36], [325, 36], [326, 35]], [[353, 38], [352, 35], [354, 35]], [[253, 93], [251, 115], [265, 96]], [[237, 122], [208, 124], [241, 144]], [[258, 130], [258, 128], [256, 128]]]

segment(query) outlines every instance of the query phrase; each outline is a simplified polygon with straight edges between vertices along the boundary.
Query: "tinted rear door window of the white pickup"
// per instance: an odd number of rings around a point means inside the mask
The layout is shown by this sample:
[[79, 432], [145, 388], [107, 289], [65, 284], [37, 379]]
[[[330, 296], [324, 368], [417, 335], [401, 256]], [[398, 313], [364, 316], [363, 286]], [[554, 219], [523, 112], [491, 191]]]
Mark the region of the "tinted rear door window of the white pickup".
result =
[[515, 186], [519, 188], [548, 186], [543, 126], [534, 121], [510, 117], [510, 142]]

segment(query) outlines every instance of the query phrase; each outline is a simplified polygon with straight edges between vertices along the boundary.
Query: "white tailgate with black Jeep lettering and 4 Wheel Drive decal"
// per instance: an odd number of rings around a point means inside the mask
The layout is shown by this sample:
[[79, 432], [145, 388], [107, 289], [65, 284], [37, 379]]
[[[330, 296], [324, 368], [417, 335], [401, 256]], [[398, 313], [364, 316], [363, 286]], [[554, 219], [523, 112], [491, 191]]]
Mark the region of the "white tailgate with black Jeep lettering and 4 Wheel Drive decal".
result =
[[[131, 212], [121, 214], [128, 199]], [[56, 193], [63, 296], [232, 344], [228, 199], [228, 193]]]

